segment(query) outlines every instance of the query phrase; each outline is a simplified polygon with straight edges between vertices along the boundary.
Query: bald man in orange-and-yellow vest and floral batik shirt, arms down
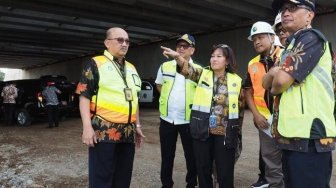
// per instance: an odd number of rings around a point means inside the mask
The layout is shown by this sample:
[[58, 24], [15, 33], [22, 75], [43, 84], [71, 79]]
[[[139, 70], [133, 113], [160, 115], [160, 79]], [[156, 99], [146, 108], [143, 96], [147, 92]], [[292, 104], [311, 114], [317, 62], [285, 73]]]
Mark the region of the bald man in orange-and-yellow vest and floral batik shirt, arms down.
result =
[[104, 44], [107, 50], [85, 65], [76, 90], [82, 142], [89, 147], [89, 187], [125, 188], [131, 183], [135, 146], [144, 137], [138, 109], [141, 80], [125, 60], [125, 30], [110, 28]]

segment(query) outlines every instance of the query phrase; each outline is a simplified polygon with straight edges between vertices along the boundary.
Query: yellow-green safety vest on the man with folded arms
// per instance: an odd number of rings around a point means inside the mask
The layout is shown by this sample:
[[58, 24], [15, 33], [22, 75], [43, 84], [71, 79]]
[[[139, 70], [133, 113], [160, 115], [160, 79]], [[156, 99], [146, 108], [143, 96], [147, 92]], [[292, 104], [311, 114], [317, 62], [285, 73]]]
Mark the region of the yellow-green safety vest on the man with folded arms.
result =
[[[287, 50], [291, 50], [294, 43], [295, 39]], [[290, 86], [281, 95], [278, 132], [284, 137], [309, 139], [314, 119], [319, 119], [324, 126], [325, 135], [319, 135], [321, 138], [336, 136], [332, 58], [326, 41], [324, 50], [318, 64], [304, 82]]]

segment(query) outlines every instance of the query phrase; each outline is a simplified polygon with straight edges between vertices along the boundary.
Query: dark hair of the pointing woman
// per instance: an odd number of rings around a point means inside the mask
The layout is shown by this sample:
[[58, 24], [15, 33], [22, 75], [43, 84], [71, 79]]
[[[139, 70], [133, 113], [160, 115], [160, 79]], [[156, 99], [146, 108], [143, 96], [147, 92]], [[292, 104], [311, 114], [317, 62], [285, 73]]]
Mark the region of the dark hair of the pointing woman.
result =
[[236, 73], [237, 72], [237, 62], [236, 57], [233, 53], [233, 50], [230, 48], [230, 46], [226, 44], [217, 44], [212, 47], [211, 54], [217, 50], [221, 49], [223, 52], [223, 55], [226, 58], [226, 61], [229, 62], [229, 64], [226, 66], [225, 71], [229, 73]]

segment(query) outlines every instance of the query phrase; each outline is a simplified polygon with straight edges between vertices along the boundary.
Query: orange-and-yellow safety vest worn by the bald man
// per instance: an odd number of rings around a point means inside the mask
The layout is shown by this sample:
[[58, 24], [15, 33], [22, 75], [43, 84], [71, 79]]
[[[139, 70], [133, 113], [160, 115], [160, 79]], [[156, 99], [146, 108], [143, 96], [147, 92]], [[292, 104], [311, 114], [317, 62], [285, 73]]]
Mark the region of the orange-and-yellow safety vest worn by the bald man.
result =
[[[111, 60], [113, 59], [106, 51], [104, 55]], [[133, 101], [131, 102], [132, 111], [131, 114], [129, 114], [130, 106], [124, 94], [124, 88], [126, 88], [126, 86], [116, 69], [117, 67], [105, 56], [96, 56], [93, 59], [97, 64], [99, 72], [96, 114], [113, 123], [127, 123], [129, 115], [131, 115], [131, 122], [135, 122], [138, 107], [138, 92], [141, 89], [141, 80], [135, 67], [125, 61], [126, 81], [133, 95]], [[95, 109], [95, 103], [96, 96], [93, 96], [91, 100], [92, 111]]]

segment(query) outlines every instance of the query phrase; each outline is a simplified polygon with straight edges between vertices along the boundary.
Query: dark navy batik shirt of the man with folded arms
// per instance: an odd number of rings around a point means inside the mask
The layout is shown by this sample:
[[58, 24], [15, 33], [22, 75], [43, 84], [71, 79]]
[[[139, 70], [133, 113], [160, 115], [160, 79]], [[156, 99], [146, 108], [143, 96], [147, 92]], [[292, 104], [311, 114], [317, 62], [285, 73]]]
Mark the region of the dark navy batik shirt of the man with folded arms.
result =
[[[322, 57], [324, 53], [324, 43], [310, 29], [299, 31], [288, 37], [287, 43], [289, 44], [293, 42], [293, 40], [296, 40], [293, 49], [286, 49], [282, 54], [280, 69], [294, 78], [294, 84], [302, 84]], [[309, 140], [281, 137], [277, 132], [280, 97], [281, 96], [277, 96], [274, 102], [272, 132], [281, 149], [307, 152], [309, 148], [311, 148], [310, 146], [313, 145], [315, 145], [317, 152], [327, 152], [335, 149], [335, 140], [333, 138]], [[288, 108], [290, 108], [290, 106]]]

